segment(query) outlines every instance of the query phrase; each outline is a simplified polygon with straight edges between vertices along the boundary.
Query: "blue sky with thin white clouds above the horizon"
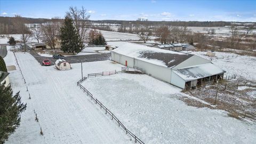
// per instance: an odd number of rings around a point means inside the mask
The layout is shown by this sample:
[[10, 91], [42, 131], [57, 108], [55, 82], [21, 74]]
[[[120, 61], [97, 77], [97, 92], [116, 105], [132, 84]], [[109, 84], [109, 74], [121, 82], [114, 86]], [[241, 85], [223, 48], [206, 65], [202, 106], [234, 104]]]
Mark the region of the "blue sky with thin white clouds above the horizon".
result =
[[11, 1], [0, 0], [0, 14], [29, 18], [65, 17], [69, 6], [84, 6], [91, 20], [253, 21], [256, 1]]

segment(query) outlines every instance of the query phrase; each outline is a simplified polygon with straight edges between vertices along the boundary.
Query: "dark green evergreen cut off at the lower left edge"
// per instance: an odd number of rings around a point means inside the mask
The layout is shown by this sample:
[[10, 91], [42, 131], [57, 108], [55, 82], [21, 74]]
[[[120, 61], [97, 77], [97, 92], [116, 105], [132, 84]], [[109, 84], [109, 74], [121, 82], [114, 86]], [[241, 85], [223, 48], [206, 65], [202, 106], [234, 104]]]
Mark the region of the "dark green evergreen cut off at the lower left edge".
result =
[[[3, 76], [3, 75], [2, 75]], [[20, 115], [27, 104], [21, 102], [19, 92], [12, 95], [11, 86], [0, 85], [0, 143], [4, 143], [20, 125]]]

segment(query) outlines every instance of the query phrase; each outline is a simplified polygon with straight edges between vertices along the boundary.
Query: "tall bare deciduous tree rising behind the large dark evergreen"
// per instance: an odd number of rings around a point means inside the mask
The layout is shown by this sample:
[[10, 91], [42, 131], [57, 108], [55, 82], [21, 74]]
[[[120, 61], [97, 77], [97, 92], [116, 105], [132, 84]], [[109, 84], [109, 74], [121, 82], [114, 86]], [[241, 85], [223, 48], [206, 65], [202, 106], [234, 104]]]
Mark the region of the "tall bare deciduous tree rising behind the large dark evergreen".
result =
[[79, 34], [79, 39], [81, 42], [87, 40], [87, 30], [89, 29], [89, 18], [90, 14], [86, 12], [86, 9], [82, 6], [82, 9], [79, 10], [77, 7], [70, 6], [69, 12], [67, 12], [68, 17], [73, 19], [76, 30]]

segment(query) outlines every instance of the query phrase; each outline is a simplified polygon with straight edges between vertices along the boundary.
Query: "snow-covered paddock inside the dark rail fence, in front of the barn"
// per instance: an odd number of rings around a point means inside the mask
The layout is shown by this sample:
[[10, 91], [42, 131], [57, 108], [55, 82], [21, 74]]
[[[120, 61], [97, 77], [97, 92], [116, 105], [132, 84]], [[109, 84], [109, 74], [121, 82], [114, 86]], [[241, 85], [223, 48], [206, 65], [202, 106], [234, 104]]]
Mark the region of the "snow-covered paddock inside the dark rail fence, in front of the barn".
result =
[[82, 84], [145, 143], [255, 142], [255, 123], [187, 106], [180, 89], [153, 77], [117, 74]]

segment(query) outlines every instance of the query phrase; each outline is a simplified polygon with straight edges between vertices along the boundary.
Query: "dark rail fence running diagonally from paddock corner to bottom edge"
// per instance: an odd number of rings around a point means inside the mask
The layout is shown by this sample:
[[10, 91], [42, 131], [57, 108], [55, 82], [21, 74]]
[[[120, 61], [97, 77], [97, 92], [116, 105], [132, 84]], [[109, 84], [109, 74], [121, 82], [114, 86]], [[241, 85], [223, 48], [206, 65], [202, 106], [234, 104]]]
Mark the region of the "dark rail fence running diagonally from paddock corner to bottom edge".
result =
[[[97, 73], [95, 73], [97, 74]], [[100, 74], [100, 73], [98, 73]], [[103, 76], [103, 73], [101, 73], [102, 76]], [[87, 79], [87, 77], [83, 77], [82, 79], [80, 79], [78, 82], [77, 82], [77, 86], [80, 87], [80, 89], [83, 90], [83, 92], [85, 92], [90, 98], [91, 100], [95, 103], [95, 105], [98, 104], [98, 106], [103, 109], [105, 111], [105, 114], [109, 114], [111, 119], [114, 119], [115, 122], [118, 124], [118, 126], [121, 126], [122, 129], [125, 131], [126, 134], [129, 134], [132, 138], [134, 138], [134, 141], [135, 142], [138, 142], [140, 144], [145, 144], [144, 142], [142, 142], [135, 134], [133, 134], [130, 130], [128, 130], [124, 124], [119, 121], [119, 119], [106, 107], [104, 106], [97, 98], [94, 98], [93, 95], [85, 89], [85, 87], [81, 84], [83, 81], [85, 81]]]

